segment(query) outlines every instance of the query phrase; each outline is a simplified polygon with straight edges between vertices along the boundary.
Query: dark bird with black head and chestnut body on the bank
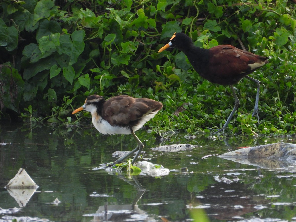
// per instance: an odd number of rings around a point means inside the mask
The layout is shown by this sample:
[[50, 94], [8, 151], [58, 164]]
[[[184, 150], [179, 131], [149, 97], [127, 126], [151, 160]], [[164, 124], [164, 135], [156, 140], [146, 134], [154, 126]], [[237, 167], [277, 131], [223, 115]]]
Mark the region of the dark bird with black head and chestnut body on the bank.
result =
[[239, 106], [239, 99], [237, 98], [232, 85], [239, 82], [244, 77], [257, 84], [255, 107], [252, 117], [256, 114], [259, 123], [258, 100], [260, 81], [247, 75], [268, 63], [267, 57], [258, 56], [231, 45], [220, 45], [210, 49], [201, 49], [194, 46], [192, 39], [184, 33], [174, 33], [170, 42], [159, 49], [158, 52], [162, 52], [169, 47], [184, 52], [193, 68], [203, 78], [211, 83], [230, 86], [235, 98], [234, 108], [223, 127], [215, 133], [220, 131], [223, 131], [224, 133], [225, 128], [228, 126], [235, 110]]

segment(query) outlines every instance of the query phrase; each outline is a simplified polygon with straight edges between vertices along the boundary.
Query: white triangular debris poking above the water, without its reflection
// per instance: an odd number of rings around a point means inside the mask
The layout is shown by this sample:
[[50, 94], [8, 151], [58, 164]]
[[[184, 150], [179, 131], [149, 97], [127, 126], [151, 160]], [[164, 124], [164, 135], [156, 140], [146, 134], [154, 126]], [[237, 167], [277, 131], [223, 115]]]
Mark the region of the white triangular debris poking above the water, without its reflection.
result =
[[39, 186], [30, 178], [28, 173], [20, 168], [14, 178], [4, 187], [6, 189], [37, 189]]

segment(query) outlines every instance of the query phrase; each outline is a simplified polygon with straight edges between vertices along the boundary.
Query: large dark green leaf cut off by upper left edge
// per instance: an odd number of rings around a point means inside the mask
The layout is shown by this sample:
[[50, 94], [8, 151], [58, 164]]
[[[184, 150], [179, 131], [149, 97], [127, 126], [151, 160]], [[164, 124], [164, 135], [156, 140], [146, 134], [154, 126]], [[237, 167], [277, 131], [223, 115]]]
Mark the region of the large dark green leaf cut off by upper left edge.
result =
[[0, 18], [0, 46], [4, 46], [7, 51], [12, 51], [18, 44], [18, 31], [15, 27], [7, 27]]

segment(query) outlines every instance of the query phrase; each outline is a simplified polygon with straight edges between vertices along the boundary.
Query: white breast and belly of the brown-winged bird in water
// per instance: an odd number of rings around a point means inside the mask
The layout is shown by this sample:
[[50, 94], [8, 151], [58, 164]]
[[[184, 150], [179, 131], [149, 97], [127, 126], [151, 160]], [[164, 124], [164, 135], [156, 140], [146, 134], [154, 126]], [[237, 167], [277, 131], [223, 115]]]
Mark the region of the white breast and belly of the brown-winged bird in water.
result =
[[102, 117], [92, 116], [92, 122], [94, 127], [104, 135], [131, 134], [131, 129], [128, 127], [111, 126], [106, 120], [102, 119]]

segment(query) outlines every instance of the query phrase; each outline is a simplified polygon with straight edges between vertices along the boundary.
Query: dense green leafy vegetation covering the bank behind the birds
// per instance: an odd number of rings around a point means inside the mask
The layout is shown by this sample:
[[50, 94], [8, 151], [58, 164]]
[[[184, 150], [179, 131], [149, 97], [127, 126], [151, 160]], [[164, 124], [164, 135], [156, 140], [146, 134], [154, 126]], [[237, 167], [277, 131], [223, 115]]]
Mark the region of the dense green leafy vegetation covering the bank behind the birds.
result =
[[[163, 102], [151, 120], [158, 129], [192, 134], [221, 127], [234, 105], [229, 87], [204, 81], [182, 52], [157, 53], [182, 31], [200, 47], [244, 45], [269, 57], [250, 75], [261, 81], [260, 123], [250, 115], [256, 86], [243, 79], [235, 85], [241, 104], [229, 132], [294, 133], [294, 15], [295, 4], [287, 0], [4, 0], [0, 116], [15, 112], [24, 119], [69, 123], [73, 107], [90, 94], [128, 94]], [[174, 115], [182, 104], [186, 109]]]

